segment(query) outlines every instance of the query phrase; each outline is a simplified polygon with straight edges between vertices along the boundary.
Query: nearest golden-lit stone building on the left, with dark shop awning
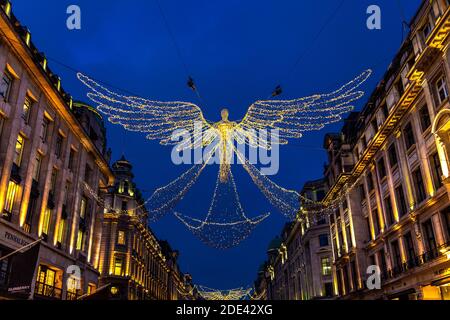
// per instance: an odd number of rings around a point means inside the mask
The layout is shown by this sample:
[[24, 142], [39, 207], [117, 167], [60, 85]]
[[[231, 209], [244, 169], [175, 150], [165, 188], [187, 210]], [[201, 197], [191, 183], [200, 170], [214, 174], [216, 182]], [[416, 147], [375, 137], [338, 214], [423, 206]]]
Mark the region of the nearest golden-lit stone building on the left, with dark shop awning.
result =
[[0, 261], [0, 295], [75, 299], [98, 286], [102, 215], [85, 186], [114, 179], [104, 126], [72, 102], [9, 1], [0, 4], [0, 256], [42, 239], [26, 286], [11, 287], [15, 257]]

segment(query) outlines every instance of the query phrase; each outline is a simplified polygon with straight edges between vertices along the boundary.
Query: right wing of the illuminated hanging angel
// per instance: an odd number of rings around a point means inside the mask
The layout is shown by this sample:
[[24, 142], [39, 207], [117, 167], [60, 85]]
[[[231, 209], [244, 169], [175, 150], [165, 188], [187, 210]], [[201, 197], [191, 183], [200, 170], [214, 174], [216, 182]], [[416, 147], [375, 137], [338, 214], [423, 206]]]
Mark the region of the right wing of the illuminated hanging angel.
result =
[[371, 70], [366, 70], [328, 94], [295, 100], [257, 101], [237, 125], [235, 138], [251, 146], [268, 148], [267, 139], [258, 139], [258, 131], [278, 129], [279, 143], [287, 144], [288, 139], [301, 138], [305, 131], [320, 130], [327, 124], [340, 121], [343, 114], [353, 110], [351, 103], [364, 95], [363, 91], [356, 89], [371, 74]]

